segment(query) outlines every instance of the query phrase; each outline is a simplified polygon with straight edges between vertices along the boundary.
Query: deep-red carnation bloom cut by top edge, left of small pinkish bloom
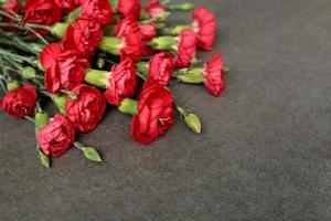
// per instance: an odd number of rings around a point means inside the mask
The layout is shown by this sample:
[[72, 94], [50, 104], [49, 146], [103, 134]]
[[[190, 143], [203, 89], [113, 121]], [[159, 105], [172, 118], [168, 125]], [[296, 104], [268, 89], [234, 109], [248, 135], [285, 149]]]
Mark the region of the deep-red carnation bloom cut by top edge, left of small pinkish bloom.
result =
[[139, 20], [141, 2], [140, 0], [119, 0], [117, 9], [124, 17], [131, 17], [135, 20]]

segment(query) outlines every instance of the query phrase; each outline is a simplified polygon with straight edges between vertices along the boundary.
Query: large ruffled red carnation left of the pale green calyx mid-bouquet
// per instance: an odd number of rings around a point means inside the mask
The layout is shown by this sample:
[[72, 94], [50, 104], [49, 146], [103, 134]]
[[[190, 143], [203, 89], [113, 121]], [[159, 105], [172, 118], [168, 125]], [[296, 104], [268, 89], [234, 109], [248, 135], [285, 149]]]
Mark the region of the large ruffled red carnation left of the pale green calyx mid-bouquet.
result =
[[51, 93], [79, 85], [85, 77], [84, 70], [89, 67], [86, 59], [75, 51], [64, 50], [58, 43], [51, 43], [43, 49], [41, 63], [45, 69], [44, 84]]

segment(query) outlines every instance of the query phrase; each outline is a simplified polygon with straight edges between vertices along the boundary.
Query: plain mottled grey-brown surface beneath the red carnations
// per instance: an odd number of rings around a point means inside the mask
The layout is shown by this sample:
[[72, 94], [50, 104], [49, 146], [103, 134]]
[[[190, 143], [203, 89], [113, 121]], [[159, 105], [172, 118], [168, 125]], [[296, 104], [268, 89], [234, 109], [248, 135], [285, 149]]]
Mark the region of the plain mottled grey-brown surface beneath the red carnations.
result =
[[1, 112], [0, 220], [331, 220], [331, 1], [194, 2], [218, 14], [232, 67], [221, 98], [174, 88], [203, 134], [178, 122], [140, 146], [113, 109], [81, 136], [103, 165], [72, 149], [47, 170], [32, 125]]

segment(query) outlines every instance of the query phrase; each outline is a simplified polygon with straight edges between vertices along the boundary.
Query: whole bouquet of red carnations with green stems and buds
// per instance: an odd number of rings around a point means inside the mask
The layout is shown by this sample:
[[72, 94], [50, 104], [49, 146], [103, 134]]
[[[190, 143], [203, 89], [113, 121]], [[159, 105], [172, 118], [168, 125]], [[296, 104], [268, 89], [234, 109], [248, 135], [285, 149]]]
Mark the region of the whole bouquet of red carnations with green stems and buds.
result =
[[[220, 53], [199, 65], [196, 49], [210, 51], [215, 15], [204, 7], [170, 0], [1, 0], [0, 107], [34, 123], [36, 154], [51, 157], [72, 146], [93, 161], [98, 151], [76, 140], [93, 131], [107, 105], [131, 115], [131, 137], [145, 145], [164, 135], [179, 113], [201, 133], [199, 117], [171, 92], [174, 83], [225, 90]], [[169, 27], [172, 11], [192, 13], [188, 24]], [[56, 107], [54, 116], [44, 99]]]

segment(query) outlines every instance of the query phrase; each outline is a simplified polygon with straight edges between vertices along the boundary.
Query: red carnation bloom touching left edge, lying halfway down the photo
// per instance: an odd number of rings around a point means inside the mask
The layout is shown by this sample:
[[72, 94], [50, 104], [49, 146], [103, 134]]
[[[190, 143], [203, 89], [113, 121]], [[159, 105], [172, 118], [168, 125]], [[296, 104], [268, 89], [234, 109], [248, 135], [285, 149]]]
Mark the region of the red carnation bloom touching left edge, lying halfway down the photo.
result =
[[36, 91], [30, 84], [7, 92], [0, 99], [0, 106], [14, 117], [33, 116], [35, 103]]

